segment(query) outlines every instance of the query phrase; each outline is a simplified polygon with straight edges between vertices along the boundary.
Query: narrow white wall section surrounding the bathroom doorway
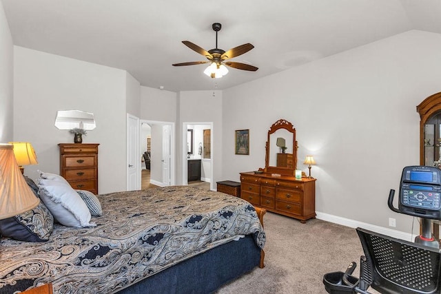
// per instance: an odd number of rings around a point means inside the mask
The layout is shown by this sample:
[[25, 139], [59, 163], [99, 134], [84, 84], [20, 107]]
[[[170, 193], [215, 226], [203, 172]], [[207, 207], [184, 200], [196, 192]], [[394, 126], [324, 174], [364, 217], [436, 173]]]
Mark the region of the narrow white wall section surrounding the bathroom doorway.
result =
[[[212, 128], [212, 165], [213, 174], [211, 182], [217, 182], [222, 179], [222, 167], [223, 167], [223, 117], [222, 117], [222, 105], [223, 105], [223, 93], [216, 91], [216, 96], [213, 96], [213, 91], [185, 91], [180, 92], [178, 95], [179, 105], [179, 127], [178, 127], [178, 142], [182, 142], [182, 127], [183, 123], [213, 123]], [[197, 144], [196, 144], [197, 145]], [[181, 145], [179, 145], [181, 146]], [[197, 154], [197, 147], [196, 147]], [[178, 158], [177, 169], [177, 182], [178, 185], [182, 184], [182, 162], [183, 162], [182, 147], [178, 147], [176, 157]], [[227, 179], [224, 179], [227, 180]]]

